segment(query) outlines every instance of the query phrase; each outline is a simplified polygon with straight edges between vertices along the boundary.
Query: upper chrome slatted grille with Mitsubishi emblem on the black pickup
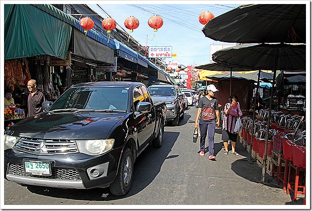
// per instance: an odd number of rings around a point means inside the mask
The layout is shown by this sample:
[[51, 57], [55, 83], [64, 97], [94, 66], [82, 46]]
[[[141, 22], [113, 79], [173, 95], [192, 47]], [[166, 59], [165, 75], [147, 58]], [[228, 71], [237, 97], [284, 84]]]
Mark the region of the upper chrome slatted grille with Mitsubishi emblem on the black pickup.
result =
[[77, 152], [74, 140], [20, 138], [15, 149], [31, 154], [64, 154]]

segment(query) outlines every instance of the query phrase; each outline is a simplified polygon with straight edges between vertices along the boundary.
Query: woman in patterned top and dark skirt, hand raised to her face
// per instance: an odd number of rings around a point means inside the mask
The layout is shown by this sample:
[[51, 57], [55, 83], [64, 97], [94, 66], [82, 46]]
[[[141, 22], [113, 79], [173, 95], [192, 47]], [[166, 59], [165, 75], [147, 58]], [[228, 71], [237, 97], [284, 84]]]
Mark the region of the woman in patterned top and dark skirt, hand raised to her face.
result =
[[232, 154], [239, 155], [235, 152], [235, 146], [237, 141], [237, 134], [234, 133], [235, 124], [239, 117], [243, 115], [240, 103], [238, 102], [239, 97], [236, 94], [232, 94], [228, 98], [229, 102], [224, 105], [224, 120], [222, 124], [222, 141], [225, 152], [224, 155], [228, 154], [227, 141], [230, 140], [232, 143]]

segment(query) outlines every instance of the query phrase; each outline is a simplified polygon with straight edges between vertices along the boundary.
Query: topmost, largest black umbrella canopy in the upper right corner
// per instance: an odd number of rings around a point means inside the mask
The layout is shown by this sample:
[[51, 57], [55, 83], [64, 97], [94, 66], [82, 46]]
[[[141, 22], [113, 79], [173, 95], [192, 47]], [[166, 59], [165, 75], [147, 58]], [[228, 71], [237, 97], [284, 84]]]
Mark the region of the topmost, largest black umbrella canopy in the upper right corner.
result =
[[242, 5], [211, 19], [202, 32], [229, 43], [306, 43], [306, 5]]

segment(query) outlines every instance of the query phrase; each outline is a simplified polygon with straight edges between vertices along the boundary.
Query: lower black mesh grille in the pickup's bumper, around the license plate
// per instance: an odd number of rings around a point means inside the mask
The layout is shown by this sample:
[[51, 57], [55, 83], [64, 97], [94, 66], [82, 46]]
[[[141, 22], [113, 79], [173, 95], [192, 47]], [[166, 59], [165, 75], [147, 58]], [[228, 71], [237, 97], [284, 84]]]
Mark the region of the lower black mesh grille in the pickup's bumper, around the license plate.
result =
[[79, 173], [73, 168], [56, 168], [52, 167], [51, 176], [40, 176], [26, 174], [22, 164], [10, 163], [8, 173], [13, 175], [32, 177], [32, 178], [45, 178], [45, 179], [61, 179], [61, 180], [81, 180]]

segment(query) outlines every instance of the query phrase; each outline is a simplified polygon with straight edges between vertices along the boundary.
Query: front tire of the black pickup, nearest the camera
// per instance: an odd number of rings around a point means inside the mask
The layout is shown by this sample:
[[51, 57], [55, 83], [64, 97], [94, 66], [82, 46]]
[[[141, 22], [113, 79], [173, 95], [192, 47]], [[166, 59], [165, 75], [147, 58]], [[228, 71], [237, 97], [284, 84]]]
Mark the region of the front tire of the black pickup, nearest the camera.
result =
[[121, 156], [119, 168], [115, 180], [109, 189], [113, 195], [125, 195], [129, 190], [133, 174], [133, 157], [131, 150], [127, 148]]

